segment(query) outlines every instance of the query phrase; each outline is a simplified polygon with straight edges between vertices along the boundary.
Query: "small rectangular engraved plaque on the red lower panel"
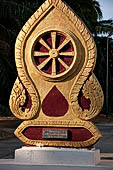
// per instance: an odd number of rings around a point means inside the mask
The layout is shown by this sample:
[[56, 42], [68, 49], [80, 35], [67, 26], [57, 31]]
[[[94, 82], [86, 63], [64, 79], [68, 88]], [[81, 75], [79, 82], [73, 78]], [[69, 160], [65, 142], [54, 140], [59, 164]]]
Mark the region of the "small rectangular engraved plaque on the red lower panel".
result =
[[67, 130], [43, 130], [44, 139], [67, 139], [68, 131]]

